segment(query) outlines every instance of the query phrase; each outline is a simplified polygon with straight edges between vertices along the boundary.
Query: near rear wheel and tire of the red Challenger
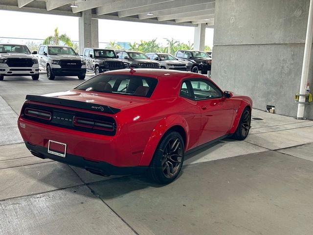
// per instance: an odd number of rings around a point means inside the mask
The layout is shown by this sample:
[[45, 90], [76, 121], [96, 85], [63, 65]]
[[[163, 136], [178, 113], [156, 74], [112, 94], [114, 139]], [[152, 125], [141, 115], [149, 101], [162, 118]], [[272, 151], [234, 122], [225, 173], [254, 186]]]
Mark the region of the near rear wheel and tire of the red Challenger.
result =
[[173, 182], [181, 170], [184, 149], [184, 142], [178, 132], [167, 133], [156, 147], [147, 172], [149, 178], [158, 184]]

